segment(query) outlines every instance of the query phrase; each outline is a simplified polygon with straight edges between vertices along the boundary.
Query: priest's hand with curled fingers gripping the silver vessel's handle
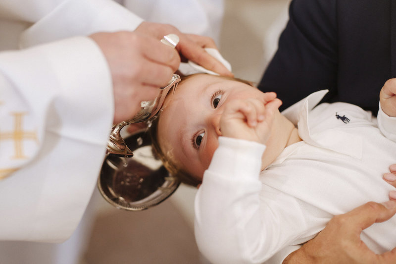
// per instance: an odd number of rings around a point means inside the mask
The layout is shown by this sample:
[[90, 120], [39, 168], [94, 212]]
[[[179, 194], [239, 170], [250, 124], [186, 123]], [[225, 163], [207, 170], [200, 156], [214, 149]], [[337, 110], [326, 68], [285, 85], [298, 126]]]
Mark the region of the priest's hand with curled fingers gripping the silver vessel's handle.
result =
[[153, 100], [178, 69], [180, 56], [156, 38], [138, 32], [90, 36], [109, 65], [114, 93], [114, 123], [131, 119], [140, 102]]

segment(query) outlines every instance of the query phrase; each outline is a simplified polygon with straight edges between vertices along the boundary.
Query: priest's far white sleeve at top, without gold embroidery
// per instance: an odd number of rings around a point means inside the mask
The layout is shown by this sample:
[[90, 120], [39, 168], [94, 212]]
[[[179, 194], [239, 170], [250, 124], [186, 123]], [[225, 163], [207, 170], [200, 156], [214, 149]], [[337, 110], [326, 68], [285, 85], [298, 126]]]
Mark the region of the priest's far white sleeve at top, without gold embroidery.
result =
[[20, 47], [96, 32], [133, 31], [142, 21], [113, 0], [65, 0], [21, 35]]

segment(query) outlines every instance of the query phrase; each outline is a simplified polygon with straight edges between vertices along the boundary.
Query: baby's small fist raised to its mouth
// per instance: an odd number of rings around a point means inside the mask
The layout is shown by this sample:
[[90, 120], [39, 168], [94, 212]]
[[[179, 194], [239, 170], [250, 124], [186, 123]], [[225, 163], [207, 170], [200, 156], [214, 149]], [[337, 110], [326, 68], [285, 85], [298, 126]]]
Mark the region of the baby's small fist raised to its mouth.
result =
[[258, 99], [230, 102], [224, 106], [220, 118], [222, 136], [265, 144], [271, 132], [274, 116], [281, 105], [282, 102], [276, 98], [275, 93], [265, 93]]

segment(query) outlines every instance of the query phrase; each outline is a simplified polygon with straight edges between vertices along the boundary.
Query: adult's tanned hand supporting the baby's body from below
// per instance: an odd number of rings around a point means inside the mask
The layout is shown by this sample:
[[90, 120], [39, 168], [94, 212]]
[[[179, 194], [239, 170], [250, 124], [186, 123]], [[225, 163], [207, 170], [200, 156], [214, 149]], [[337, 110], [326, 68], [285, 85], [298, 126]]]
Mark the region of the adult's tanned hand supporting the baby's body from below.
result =
[[363, 229], [383, 222], [396, 213], [396, 202], [366, 203], [352, 211], [334, 216], [326, 228], [300, 249], [291, 253], [283, 264], [391, 264], [396, 263], [396, 248], [377, 255], [360, 239]]

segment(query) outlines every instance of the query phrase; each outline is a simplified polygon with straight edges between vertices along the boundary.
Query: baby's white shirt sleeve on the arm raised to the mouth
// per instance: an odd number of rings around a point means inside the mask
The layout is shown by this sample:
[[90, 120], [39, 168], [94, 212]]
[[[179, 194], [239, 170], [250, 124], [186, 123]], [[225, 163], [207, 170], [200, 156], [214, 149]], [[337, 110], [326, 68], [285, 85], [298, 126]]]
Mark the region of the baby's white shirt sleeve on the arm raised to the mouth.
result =
[[265, 146], [219, 138], [195, 200], [195, 233], [211, 263], [262, 263], [266, 236], [258, 179]]

